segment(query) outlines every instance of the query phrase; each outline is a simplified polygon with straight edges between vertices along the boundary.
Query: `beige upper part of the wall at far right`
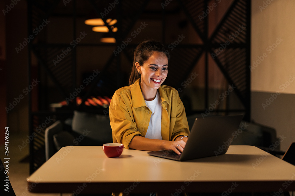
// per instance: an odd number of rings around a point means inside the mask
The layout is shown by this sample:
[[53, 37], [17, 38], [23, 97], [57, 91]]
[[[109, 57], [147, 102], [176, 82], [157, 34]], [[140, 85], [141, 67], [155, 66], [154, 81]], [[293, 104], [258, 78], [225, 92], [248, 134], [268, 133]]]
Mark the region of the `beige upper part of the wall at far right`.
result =
[[295, 94], [294, 10], [294, 0], [252, 0], [252, 91]]

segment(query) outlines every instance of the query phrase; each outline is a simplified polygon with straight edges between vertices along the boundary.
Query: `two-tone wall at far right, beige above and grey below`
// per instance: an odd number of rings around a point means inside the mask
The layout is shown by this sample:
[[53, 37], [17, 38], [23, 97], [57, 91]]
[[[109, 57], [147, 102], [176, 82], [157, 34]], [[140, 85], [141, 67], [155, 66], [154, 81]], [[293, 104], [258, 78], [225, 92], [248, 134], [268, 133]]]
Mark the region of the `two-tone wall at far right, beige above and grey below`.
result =
[[251, 117], [283, 136], [281, 150], [295, 141], [293, 0], [253, 0], [251, 25]]

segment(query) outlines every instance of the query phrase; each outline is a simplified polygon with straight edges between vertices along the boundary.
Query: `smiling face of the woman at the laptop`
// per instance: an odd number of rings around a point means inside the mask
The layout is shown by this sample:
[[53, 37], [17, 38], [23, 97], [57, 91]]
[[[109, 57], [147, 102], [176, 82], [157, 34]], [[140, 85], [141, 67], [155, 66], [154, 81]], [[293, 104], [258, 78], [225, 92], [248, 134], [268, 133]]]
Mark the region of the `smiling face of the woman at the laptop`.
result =
[[168, 58], [163, 52], [154, 52], [142, 66], [138, 62], [135, 66], [141, 74], [142, 88], [160, 88], [168, 74]]

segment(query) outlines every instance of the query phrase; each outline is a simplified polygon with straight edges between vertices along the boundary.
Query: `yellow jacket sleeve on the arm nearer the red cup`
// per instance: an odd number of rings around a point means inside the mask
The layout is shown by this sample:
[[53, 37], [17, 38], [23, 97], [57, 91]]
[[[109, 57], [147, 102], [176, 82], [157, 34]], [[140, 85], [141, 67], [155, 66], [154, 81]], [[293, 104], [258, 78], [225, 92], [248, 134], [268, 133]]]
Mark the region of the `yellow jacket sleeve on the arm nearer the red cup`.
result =
[[113, 143], [122, 143], [126, 149], [129, 149], [129, 143], [135, 135], [143, 136], [137, 131], [131, 102], [125, 102], [117, 92], [112, 97], [109, 116]]

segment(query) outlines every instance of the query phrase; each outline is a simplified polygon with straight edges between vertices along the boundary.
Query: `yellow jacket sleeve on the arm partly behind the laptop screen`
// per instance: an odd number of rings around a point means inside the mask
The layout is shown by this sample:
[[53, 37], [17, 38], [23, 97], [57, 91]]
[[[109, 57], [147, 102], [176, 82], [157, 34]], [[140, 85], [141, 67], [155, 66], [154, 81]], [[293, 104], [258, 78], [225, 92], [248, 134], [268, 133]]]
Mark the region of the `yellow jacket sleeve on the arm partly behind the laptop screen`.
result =
[[189, 124], [187, 122], [186, 113], [184, 109], [184, 105], [178, 96], [177, 92], [177, 109], [176, 109], [176, 122], [173, 128], [171, 140], [175, 140], [178, 136], [184, 135], [189, 136]]

